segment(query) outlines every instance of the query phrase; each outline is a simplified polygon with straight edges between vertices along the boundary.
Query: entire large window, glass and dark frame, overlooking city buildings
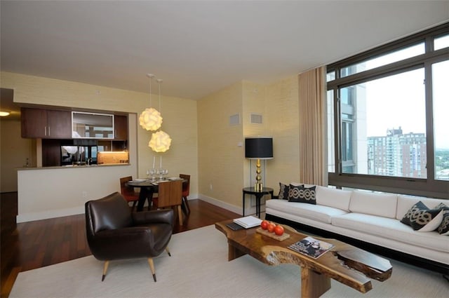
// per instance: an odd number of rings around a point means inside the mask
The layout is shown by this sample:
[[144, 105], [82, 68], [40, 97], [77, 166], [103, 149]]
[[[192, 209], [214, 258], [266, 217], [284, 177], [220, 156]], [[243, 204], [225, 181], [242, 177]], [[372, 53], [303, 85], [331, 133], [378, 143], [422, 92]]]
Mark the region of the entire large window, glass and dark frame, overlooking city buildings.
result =
[[328, 181], [448, 198], [449, 23], [328, 65]]

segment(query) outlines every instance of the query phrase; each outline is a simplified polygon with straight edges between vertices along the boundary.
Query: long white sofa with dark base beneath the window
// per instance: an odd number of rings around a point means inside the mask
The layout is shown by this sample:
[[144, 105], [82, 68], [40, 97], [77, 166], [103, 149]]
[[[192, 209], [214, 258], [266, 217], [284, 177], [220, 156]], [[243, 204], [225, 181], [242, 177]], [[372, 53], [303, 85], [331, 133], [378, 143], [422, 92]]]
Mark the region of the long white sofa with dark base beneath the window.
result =
[[[306, 184], [304, 187], [312, 186]], [[449, 206], [449, 200], [321, 186], [316, 186], [315, 196], [316, 205], [286, 199], [268, 200], [266, 219], [320, 236], [340, 238], [387, 257], [449, 273], [449, 236], [437, 231], [415, 231], [401, 222], [419, 201], [428, 208], [435, 208], [440, 203]]]

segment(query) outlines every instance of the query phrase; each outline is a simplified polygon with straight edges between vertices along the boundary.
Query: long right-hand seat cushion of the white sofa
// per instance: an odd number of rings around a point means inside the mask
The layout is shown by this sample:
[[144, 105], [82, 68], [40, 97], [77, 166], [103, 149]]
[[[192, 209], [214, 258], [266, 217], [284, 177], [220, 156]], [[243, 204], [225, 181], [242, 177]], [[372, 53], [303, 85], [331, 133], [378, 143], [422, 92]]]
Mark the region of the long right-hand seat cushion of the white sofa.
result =
[[419, 233], [410, 226], [402, 224], [397, 219], [378, 217], [360, 213], [336, 215], [332, 218], [334, 226], [360, 231], [382, 238], [408, 243], [417, 247], [449, 252], [448, 238], [439, 235], [436, 231]]

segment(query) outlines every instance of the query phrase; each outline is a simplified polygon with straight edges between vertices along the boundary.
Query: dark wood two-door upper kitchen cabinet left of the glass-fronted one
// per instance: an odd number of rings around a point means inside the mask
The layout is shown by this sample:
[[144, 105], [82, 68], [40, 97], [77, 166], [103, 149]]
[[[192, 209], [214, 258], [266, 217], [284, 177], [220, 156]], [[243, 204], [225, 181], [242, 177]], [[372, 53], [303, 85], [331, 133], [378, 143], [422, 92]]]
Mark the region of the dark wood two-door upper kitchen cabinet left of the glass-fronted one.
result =
[[20, 109], [22, 137], [58, 139], [72, 137], [70, 111]]

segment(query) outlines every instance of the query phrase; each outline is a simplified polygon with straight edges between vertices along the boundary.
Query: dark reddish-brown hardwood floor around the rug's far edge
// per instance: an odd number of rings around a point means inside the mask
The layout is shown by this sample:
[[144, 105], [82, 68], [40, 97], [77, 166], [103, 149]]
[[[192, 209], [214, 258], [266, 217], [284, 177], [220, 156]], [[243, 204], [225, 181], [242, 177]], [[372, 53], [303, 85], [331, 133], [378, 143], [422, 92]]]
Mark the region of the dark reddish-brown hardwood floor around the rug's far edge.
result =
[[[189, 200], [190, 214], [174, 233], [240, 217], [201, 200]], [[5, 206], [2, 206], [5, 207]], [[2, 208], [3, 210], [4, 208]], [[20, 271], [40, 268], [91, 255], [86, 241], [84, 215], [17, 224], [1, 230], [1, 297], [8, 297]]]

